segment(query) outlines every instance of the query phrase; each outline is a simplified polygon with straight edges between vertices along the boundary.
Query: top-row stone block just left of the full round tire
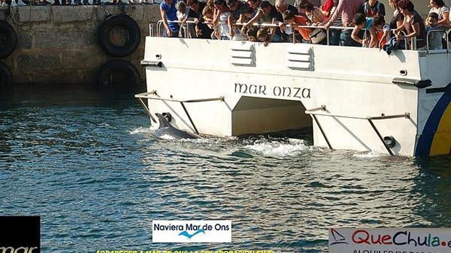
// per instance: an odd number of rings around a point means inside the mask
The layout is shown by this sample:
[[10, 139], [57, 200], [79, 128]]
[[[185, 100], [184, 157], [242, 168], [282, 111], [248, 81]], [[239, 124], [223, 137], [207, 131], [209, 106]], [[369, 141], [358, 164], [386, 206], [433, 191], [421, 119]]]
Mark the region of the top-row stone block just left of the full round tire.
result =
[[58, 23], [89, 21], [93, 15], [92, 6], [52, 6], [52, 21]]

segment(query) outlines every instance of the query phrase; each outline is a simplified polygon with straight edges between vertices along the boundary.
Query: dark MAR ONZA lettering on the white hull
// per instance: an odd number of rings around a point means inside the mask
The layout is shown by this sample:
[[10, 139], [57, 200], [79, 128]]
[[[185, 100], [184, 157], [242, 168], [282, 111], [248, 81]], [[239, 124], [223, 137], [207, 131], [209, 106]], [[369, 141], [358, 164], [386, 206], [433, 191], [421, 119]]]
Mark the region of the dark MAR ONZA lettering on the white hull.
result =
[[268, 86], [264, 84], [235, 83], [235, 93], [265, 96], [274, 95], [276, 97], [299, 99], [310, 98], [309, 88], [274, 86], [272, 89], [269, 89]]

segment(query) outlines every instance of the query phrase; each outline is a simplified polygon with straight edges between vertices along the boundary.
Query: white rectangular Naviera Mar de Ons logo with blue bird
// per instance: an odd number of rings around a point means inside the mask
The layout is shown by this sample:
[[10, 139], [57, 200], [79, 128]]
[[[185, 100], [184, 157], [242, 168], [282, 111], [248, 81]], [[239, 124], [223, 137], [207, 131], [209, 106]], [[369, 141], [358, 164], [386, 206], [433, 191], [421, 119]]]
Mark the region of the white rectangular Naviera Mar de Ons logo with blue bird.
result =
[[154, 220], [152, 242], [232, 242], [232, 221]]

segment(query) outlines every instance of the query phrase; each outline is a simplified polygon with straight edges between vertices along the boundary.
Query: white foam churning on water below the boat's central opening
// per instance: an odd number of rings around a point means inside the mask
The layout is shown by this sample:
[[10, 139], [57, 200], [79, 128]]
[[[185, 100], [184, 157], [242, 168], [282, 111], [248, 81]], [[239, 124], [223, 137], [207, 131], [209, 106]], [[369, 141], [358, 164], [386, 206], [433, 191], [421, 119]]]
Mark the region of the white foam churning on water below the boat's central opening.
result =
[[258, 140], [252, 145], [244, 146], [244, 148], [271, 157], [295, 156], [310, 149], [309, 146], [305, 145], [304, 140], [299, 139], [288, 139], [288, 141]]

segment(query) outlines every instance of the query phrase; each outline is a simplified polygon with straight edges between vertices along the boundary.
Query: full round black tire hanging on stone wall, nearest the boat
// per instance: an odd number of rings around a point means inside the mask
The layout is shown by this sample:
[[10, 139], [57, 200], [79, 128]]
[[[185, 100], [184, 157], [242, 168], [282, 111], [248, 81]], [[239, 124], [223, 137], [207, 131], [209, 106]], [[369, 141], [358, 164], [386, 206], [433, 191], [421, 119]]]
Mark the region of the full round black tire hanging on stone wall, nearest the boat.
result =
[[[116, 26], [127, 28], [129, 40], [124, 46], [114, 45], [110, 40], [110, 32]], [[129, 15], [109, 16], [99, 26], [97, 39], [105, 53], [112, 57], [124, 57], [131, 55], [138, 48], [141, 42], [141, 30], [138, 24], [136, 24], [136, 21]]]

